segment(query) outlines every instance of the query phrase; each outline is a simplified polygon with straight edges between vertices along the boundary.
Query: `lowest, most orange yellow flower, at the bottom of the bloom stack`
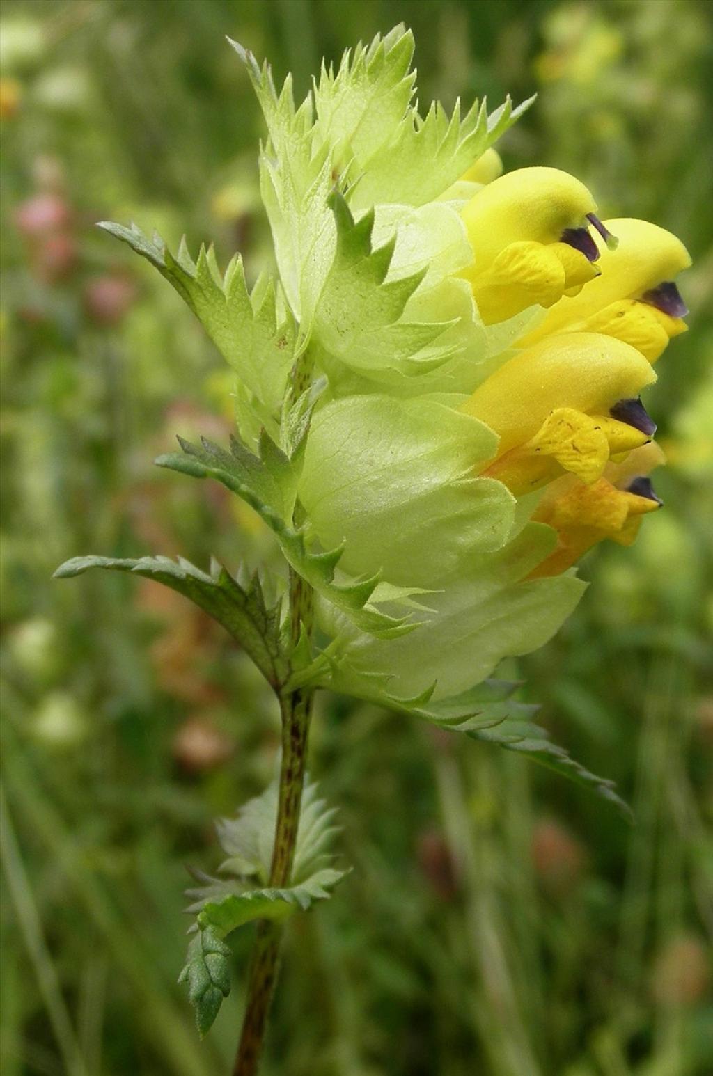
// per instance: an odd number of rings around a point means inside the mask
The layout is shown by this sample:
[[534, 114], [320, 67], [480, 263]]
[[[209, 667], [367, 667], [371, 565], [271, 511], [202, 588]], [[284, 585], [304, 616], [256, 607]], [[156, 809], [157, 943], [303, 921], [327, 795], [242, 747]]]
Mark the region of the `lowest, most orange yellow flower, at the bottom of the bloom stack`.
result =
[[557, 530], [557, 549], [530, 578], [567, 571], [604, 538], [630, 546], [642, 518], [661, 507], [647, 477], [660, 463], [663, 453], [652, 443], [634, 449], [626, 464], [610, 464], [592, 485], [572, 475], [553, 482], [533, 519]]

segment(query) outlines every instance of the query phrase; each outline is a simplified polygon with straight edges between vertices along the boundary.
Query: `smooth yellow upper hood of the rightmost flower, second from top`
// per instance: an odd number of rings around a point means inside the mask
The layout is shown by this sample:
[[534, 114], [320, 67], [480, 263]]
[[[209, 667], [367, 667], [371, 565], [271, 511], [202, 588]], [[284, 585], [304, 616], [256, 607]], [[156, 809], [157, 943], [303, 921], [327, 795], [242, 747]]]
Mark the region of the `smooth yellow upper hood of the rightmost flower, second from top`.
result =
[[[579, 295], [565, 297], [553, 307], [537, 328], [522, 339], [522, 344], [534, 343], [553, 332], [577, 331], [585, 327], [593, 329], [589, 320], [595, 314], [623, 299], [639, 299], [663, 281], [673, 280], [690, 265], [686, 247], [665, 228], [630, 217], [605, 221], [604, 224], [619, 243], [615, 251], [611, 251], [599, 236], [596, 237], [600, 250], [597, 265], [601, 275], [587, 284]], [[665, 327], [669, 326], [665, 324]]]

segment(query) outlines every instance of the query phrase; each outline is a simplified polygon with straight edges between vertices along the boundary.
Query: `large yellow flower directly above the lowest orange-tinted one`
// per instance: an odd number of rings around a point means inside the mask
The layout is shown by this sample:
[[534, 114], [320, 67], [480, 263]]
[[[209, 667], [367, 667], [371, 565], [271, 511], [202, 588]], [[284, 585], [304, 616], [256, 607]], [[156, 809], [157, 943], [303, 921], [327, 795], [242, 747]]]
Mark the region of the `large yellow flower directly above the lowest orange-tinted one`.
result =
[[638, 351], [593, 332], [562, 334], [518, 352], [463, 405], [500, 436], [483, 473], [516, 496], [562, 471], [596, 482], [612, 456], [654, 434], [638, 396], [655, 380]]

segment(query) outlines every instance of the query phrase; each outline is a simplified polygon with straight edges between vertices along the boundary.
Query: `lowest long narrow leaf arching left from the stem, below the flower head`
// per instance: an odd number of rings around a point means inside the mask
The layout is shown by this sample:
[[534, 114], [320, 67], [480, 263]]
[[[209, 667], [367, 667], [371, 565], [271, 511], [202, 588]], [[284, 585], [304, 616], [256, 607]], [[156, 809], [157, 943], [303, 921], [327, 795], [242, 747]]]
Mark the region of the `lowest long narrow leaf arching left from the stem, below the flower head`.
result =
[[230, 633], [269, 683], [278, 686], [286, 679], [289, 663], [280, 642], [280, 603], [267, 607], [257, 575], [238, 582], [219, 564], [213, 564], [211, 575], [207, 575], [182, 557], [75, 556], [57, 568], [55, 578], [80, 576], [89, 568], [130, 571], [178, 591]]

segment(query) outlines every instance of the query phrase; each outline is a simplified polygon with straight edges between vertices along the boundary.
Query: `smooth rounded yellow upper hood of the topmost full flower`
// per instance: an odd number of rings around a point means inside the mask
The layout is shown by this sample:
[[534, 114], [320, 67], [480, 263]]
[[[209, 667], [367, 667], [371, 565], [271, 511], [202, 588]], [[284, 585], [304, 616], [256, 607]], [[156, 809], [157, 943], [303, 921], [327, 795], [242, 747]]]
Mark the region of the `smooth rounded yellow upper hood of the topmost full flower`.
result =
[[557, 168], [520, 168], [493, 180], [461, 210], [475, 251], [474, 273], [489, 269], [511, 243], [557, 243], [597, 209], [583, 183]]

